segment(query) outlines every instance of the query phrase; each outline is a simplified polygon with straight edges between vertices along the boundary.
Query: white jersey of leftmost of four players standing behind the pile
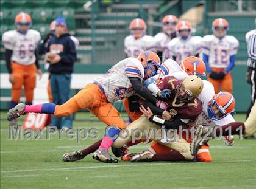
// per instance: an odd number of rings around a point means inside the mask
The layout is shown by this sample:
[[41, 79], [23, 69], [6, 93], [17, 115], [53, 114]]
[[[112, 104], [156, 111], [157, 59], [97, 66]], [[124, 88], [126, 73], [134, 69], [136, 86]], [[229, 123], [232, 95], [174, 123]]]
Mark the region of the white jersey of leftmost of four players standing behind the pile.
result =
[[127, 57], [137, 58], [146, 50], [156, 51], [154, 37], [144, 35], [136, 39], [133, 35], [129, 35], [124, 39], [124, 52]]

